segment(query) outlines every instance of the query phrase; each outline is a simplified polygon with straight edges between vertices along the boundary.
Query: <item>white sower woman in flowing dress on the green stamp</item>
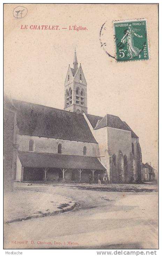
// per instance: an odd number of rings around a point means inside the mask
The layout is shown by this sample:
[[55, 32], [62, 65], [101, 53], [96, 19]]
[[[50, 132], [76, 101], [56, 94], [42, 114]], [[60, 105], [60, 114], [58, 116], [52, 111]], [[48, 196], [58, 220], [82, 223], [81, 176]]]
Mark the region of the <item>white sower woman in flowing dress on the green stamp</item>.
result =
[[133, 57], [139, 56], [141, 58], [141, 50], [134, 46], [134, 35], [138, 38], [142, 38], [142, 35], [138, 35], [136, 32], [140, 31], [141, 29], [133, 28], [130, 24], [128, 26], [128, 29], [124, 31], [125, 35], [121, 39], [122, 43], [127, 44], [127, 50], [128, 50], [128, 56], [130, 56], [130, 60], [133, 59]]

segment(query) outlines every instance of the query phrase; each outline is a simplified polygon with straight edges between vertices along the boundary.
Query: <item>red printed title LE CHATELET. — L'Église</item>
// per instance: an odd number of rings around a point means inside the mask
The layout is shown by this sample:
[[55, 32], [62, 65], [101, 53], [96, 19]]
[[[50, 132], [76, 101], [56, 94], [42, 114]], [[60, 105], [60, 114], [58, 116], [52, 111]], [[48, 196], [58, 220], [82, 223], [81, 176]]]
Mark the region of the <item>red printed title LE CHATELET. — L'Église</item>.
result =
[[67, 26], [67, 27], [60, 27], [59, 25], [21, 25], [20, 29], [32, 29], [32, 30], [88, 30], [84, 26]]

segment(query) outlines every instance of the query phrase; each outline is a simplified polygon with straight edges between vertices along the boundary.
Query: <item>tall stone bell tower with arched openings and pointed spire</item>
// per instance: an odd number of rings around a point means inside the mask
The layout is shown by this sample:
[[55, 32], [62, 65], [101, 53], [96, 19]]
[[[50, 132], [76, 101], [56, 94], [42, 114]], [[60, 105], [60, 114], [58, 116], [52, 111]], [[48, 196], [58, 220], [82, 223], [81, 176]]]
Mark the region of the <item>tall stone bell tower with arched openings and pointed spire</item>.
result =
[[87, 113], [87, 82], [83, 70], [78, 67], [76, 50], [74, 51], [73, 68], [68, 67], [64, 85], [64, 110], [78, 114]]

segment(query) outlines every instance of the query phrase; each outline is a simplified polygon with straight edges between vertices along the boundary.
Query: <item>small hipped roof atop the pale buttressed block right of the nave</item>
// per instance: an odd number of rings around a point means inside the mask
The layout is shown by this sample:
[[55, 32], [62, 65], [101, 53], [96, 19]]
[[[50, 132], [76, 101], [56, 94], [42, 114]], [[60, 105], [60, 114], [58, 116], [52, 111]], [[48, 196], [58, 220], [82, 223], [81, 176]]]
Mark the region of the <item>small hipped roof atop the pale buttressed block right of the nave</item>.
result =
[[103, 119], [97, 124], [95, 130], [106, 126], [130, 131], [126, 124], [123, 121], [121, 121], [121, 119], [118, 116], [114, 115], [106, 114], [103, 117]]

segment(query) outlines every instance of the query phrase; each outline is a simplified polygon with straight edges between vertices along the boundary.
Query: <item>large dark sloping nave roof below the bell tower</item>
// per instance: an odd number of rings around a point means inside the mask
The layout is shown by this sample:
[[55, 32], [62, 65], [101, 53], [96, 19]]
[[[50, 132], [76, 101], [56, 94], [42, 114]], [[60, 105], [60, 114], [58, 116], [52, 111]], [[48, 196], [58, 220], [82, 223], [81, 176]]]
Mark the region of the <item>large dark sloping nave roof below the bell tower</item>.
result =
[[97, 143], [83, 115], [13, 100], [20, 134]]

